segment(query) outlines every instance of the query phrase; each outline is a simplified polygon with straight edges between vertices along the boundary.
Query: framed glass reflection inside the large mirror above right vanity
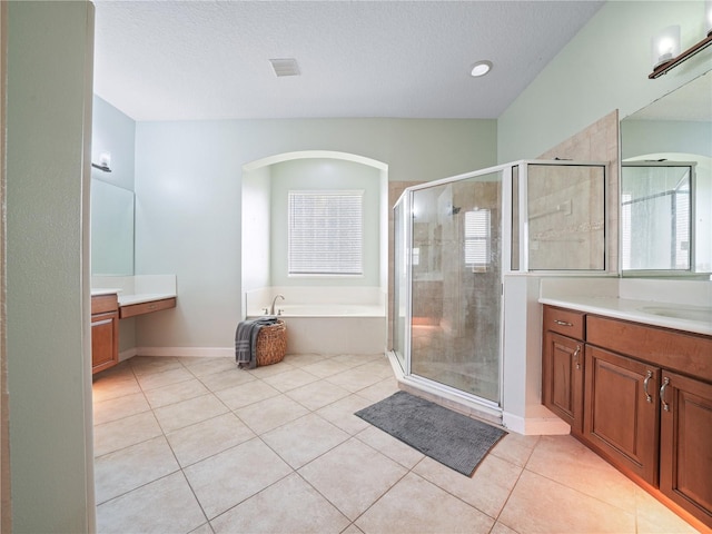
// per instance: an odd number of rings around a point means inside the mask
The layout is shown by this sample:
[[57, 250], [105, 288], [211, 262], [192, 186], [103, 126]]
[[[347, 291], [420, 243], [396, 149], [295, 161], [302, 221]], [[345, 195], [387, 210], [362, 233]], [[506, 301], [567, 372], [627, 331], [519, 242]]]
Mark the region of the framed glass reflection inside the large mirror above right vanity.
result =
[[621, 260], [624, 270], [690, 270], [694, 164], [624, 162]]

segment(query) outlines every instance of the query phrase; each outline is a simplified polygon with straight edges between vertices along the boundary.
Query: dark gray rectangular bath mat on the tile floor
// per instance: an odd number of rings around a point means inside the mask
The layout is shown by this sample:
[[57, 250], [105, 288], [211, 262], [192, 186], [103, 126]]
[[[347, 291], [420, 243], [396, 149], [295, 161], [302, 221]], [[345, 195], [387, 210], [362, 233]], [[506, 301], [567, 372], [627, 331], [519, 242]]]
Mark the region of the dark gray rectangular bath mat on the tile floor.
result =
[[406, 392], [395, 393], [355, 415], [465, 476], [472, 476], [482, 458], [506, 434]]

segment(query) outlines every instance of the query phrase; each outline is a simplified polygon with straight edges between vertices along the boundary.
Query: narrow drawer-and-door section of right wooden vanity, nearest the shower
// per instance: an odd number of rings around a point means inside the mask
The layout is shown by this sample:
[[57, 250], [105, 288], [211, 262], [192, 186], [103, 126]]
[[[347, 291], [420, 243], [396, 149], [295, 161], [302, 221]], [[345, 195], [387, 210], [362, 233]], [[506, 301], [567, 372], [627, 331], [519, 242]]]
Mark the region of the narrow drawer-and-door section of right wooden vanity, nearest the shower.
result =
[[542, 402], [571, 426], [583, 432], [584, 314], [544, 308]]

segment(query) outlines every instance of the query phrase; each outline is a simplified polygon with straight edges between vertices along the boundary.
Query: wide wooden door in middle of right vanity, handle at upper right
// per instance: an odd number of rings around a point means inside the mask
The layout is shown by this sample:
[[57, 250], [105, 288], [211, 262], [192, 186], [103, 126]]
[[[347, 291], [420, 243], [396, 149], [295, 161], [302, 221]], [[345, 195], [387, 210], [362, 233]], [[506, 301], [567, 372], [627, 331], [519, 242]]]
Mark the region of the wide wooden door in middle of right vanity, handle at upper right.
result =
[[584, 438], [624, 473], [657, 484], [660, 369], [586, 345]]

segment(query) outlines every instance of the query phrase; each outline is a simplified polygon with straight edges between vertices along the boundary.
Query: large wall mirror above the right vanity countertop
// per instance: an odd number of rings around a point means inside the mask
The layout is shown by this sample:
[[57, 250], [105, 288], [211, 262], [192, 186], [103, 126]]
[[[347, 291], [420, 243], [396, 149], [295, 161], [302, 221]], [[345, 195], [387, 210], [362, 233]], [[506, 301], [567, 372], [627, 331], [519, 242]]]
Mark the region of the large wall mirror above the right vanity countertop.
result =
[[712, 273], [712, 71], [621, 121], [621, 269]]

